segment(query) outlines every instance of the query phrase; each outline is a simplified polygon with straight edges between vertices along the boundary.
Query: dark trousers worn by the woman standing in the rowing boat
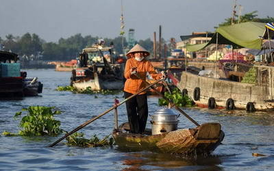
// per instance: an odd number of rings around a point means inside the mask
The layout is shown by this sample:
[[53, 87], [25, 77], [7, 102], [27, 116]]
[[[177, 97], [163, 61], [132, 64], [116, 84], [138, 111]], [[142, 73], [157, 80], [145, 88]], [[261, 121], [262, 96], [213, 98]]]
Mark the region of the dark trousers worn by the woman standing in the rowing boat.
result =
[[[125, 98], [132, 96], [125, 92]], [[149, 109], [147, 107], [147, 94], [138, 94], [125, 102], [127, 107], [127, 118], [132, 133], [144, 133], [147, 124]]]

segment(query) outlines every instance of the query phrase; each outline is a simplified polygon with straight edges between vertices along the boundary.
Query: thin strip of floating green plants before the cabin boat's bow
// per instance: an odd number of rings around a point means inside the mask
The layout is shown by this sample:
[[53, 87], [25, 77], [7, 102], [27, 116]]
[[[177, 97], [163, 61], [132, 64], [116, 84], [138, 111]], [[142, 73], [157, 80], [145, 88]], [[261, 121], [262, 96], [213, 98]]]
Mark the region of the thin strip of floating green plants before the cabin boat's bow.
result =
[[[90, 87], [86, 88], [86, 90], [79, 91], [76, 88], [73, 88], [73, 86], [58, 86], [56, 88], [58, 91], [71, 91], [74, 93], [81, 93], [81, 94], [102, 94], [102, 95], [108, 95], [108, 94], [119, 94], [121, 90], [91, 90]], [[95, 98], [98, 98], [96, 96]]]

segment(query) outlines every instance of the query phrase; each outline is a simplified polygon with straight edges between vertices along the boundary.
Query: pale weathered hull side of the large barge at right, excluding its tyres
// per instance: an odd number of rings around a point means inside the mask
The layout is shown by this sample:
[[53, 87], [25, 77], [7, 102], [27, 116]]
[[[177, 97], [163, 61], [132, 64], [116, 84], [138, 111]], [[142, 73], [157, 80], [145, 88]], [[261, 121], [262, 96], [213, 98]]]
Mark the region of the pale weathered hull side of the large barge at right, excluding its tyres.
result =
[[[232, 98], [236, 109], [246, 109], [247, 103], [253, 103], [257, 111], [274, 111], [273, 96], [266, 85], [240, 83], [201, 77], [192, 73], [182, 72], [177, 87], [187, 90], [188, 96], [199, 107], [208, 107], [210, 98], [214, 98], [216, 108], [227, 107], [227, 101]], [[199, 88], [199, 99], [195, 100], [195, 88]]]

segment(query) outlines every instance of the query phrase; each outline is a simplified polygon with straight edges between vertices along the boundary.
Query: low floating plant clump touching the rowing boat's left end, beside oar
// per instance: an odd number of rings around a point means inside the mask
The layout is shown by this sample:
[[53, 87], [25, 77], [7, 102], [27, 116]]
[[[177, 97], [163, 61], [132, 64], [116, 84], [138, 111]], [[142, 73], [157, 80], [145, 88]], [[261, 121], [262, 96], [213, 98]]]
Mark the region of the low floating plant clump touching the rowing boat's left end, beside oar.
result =
[[112, 137], [109, 138], [109, 136], [110, 135], [104, 137], [102, 140], [100, 140], [97, 135], [93, 135], [90, 139], [86, 139], [84, 138], [84, 133], [73, 133], [66, 137], [66, 140], [68, 141], [66, 144], [80, 147], [112, 146], [114, 140]]

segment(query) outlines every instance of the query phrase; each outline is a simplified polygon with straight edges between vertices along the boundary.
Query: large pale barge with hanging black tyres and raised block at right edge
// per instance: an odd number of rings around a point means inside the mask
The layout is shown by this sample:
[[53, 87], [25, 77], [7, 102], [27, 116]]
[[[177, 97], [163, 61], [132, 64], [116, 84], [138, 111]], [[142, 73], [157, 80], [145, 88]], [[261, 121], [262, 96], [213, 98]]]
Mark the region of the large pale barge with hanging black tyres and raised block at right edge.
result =
[[[274, 111], [274, 67], [256, 68], [255, 83], [203, 77], [182, 72], [177, 87], [200, 107]], [[245, 73], [244, 73], [245, 75]]]

